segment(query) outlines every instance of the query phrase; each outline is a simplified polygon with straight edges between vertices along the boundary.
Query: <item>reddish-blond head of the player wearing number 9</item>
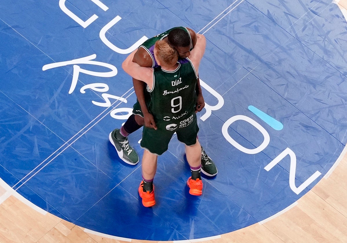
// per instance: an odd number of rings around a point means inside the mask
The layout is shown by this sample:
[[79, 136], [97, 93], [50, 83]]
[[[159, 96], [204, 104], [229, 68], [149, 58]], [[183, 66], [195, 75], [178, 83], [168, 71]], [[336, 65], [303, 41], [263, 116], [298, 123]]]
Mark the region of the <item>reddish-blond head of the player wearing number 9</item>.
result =
[[172, 67], [178, 61], [178, 52], [165, 41], [157, 41], [154, 45], [155, 60], [160, 66]]

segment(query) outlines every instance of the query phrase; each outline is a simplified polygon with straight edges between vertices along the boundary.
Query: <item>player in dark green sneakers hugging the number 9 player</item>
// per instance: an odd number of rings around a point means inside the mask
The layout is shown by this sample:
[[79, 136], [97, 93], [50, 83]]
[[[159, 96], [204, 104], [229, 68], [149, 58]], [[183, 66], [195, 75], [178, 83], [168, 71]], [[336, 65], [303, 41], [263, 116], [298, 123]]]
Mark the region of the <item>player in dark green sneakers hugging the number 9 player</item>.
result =
[[[192, 29], [185, 27], [175, 27], [168, 31], [159, 34], [145, 41], [136, 51], [133, 61], [138, 63], [142, 67], [158, 67], [158, 63], [154, 57], [154, 43], [158, 40], [163, 40], [173, 46], [179, 54], [179, 62], [181, 64], [187, 62], [185, 59], [189, 57], [190, 51], [196, 43], [196, 34]], [[153, 119], [153, 115], [148, 111], [145, 104], [145, 95], [148, 95], [144, 91], [145, 84], [137, 79], [133, 78], [133, 84], [138, 101], [134, 105], [133, 113], [124, 126], [120, 129], [115, 129], [109, 134], [109, 140], [113, 146], [115, 146], [119, 157], [126, 163], [136, 165], [139, 161], [136, 151], [129, 145], [127, 136], [130, 133], [141, 128], [143, 125], [146, 127], [156, 129], [156, 124]], [[200, 81], [198, 79], [196, 85], [196, 106], [195, 111], [201, 111], [205, 106], [204, 98], [202, 96]], [[205, 153], [201, 148], [201, 163], [202, 172], [208, 176], [214, 176], [217, 174], [217, 167], [213, 160]]]

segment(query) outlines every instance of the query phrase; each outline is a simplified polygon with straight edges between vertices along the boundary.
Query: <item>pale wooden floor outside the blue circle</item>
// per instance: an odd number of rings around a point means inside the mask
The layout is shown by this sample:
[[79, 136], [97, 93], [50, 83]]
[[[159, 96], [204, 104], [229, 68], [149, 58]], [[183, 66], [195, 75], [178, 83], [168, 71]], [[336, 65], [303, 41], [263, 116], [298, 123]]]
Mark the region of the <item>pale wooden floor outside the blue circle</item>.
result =
[[[347, 0], [338, 1], [338, 5], [347, 17]], [[347, 155], [342, 157], [329, 176], [325, 176], [291, 209], [267, 222], [257, 223], [203, 242], [346, 243], [346, 177]], [[0, 204], [1, 243], [126, 242], [85, 232], [84, 228], [66, 222], [52, 214], [43, 214], [42, 210], [35, 210], [20, 199], [18, 195], [12, 194], [6, 185], [0, 186], [0, 203], [2, 202]], [[132, 240], [132, 242], [154, 241]]]

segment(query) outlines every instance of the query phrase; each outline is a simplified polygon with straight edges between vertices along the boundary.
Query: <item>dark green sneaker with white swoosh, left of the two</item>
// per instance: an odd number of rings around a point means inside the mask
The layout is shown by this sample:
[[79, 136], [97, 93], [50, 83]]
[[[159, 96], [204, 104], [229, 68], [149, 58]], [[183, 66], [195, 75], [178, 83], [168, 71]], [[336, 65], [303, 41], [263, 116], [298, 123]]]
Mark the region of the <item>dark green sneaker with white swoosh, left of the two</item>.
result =
[[138, 163], [138, 155], [136, 151], [129, 145], [128, 138], [117, 139], [116, 132], [119, 129], [113, 130], [109, 135], [109, 140], [115, 146], [119, 158], [129, 165], [136, 165]]

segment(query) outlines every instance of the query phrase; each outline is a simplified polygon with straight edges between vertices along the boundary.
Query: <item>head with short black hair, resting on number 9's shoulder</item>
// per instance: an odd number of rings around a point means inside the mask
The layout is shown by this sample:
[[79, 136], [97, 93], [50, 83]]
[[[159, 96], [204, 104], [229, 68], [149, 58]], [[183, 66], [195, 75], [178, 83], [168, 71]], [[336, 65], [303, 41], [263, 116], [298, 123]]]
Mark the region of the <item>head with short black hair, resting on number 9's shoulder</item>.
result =
[[172, 29], [168, 35], [168, 42], [178, 51], [180, 58], [189, 57], [191, 54], [191, 38], [189, 34], [180, 28]]

